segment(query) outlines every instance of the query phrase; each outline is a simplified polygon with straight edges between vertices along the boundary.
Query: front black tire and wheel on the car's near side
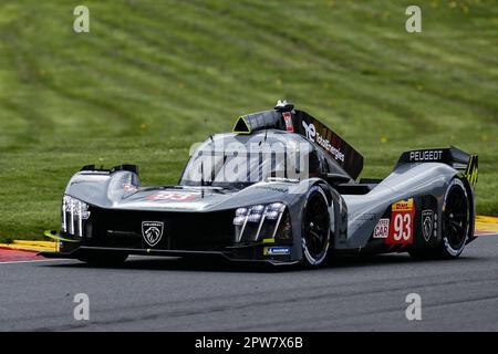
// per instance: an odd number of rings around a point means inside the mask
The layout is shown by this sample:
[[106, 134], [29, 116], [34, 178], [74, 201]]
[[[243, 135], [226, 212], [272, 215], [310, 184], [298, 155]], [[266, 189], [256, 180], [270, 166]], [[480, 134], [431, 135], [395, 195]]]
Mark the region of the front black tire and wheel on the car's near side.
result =
[[302, 260], [308, 268], [326, 262], [330, 247], [329, 204], [322, 188], [314, 186], [308, 192], [302, 214]]

